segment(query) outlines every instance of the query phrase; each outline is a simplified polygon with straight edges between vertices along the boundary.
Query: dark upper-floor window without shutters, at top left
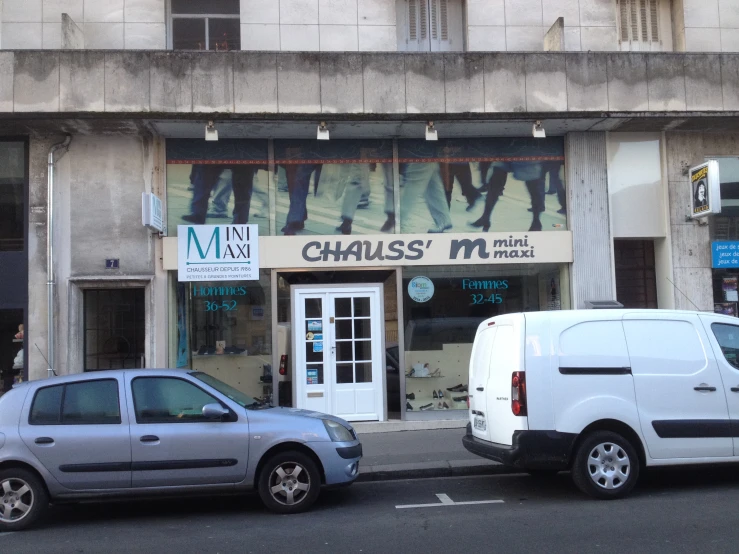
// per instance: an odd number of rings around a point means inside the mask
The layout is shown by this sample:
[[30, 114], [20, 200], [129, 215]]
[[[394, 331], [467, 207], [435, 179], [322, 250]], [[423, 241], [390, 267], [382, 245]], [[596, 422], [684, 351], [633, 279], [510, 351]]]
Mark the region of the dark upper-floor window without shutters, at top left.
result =
[[239, 50], [239, 0], [170, 0], [174, 50]]

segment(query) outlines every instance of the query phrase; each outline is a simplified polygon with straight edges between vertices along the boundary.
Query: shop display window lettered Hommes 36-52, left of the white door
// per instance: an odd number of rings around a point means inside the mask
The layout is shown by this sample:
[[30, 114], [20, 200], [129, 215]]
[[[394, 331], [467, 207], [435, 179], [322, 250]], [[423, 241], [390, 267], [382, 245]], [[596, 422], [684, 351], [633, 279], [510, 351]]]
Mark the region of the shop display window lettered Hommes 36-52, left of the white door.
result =
[[270, 272], [258, 281], [177, 283], [177, 367], [273, 402]]

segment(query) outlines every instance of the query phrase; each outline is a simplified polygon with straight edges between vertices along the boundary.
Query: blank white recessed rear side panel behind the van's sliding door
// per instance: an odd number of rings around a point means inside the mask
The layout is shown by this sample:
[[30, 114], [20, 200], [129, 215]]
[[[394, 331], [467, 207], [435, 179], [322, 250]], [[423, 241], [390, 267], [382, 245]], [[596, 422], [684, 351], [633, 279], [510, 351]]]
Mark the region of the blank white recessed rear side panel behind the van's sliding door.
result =
[[629, 351], [620, 321], [585, 321], [559, 336], [559, 367], [616, 369], [629, 367]]

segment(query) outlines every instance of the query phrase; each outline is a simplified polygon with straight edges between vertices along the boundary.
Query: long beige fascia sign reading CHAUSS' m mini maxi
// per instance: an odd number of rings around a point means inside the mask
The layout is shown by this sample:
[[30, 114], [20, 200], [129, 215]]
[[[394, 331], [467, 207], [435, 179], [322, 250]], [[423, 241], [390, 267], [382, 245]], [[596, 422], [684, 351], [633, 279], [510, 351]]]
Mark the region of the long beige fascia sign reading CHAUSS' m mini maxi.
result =
[[[184, 226], [187, 228], [187, 226]], [[179, 233], [179, 231], [178, 231]], [[164, 269], [177, 269], [164, 239]], [[205, 238], [203, 239], [205, 240]], [[207, 245], [207, 241], [205, 243]], [[266, 268], [572, 263], [571, 231], [259, 237]]]

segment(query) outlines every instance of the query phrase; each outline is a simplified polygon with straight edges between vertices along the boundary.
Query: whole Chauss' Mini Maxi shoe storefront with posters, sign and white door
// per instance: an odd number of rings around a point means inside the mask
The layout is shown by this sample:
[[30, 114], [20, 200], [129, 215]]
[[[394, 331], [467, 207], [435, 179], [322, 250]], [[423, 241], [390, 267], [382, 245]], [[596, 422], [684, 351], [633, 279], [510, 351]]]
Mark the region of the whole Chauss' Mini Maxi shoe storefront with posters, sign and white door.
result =
[[480, 322], [571, 305], [562, 138], [172, 139], [166, 214], [170, 364], [283, 406], [463, 417]]

